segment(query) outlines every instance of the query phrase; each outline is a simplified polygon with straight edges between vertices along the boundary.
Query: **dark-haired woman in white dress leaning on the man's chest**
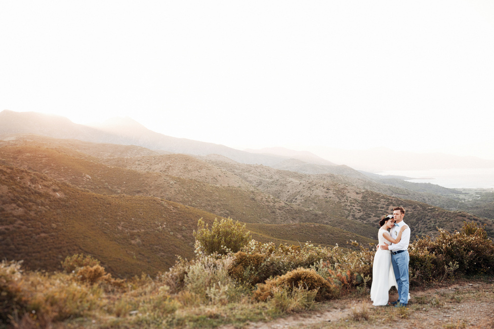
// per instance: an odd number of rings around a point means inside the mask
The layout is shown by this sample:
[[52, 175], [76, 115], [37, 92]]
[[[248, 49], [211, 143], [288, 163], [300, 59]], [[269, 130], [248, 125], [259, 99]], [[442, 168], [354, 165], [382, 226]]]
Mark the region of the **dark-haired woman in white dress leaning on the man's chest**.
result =
[[[393, 239], [388, 230], [395, 224], [393, 215], [384, 216], [379, 221], [381, 227], [377, 233], [377, 239], [379, 240], [379, 246], [384, 243], [391, 245], [391, 243], [398, 243], [401, 240], [403, 231], [408, 227], [403, 225], [398, 233], [396, 239]], [[391, 252], [389, 250], [377, 249], [374, 255], [374, 263], [372, 264], [372, 285], [371, 285], [371, 300], [374, 306], [383, 306], [388, 304], [389, 290], [395, 286], [398, 289], [396, 283], [395, 274], [393, 272], [393, 266], [391, 265]]]

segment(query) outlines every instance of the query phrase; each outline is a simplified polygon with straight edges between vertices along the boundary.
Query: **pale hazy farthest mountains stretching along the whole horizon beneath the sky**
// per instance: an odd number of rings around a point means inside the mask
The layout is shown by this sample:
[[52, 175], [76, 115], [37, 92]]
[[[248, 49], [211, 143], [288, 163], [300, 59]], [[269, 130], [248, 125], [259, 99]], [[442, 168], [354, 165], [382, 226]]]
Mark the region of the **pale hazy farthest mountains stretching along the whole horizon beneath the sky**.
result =
[[[310, 151], [295, 151], [283, 147], [238, 150], [235, 148], [175, 138], [151, 131], [130, 118], [113, 118], [91, 126], [76, 124], [65, 117], [37, 112], [0, 112], [0, 134], [36, 134], [53, 138], [76, 139], [96, 143], [143, 146], [161, 152], [192, 155], [220, 154], [246, 164], [272, 166], [283, 160], [297, 159], [306, 163], [334, 166], [345, 165], [365, 172], [390, 170], [427, 170], [455, 168], [494, 168], [494, 160], [444, 153], [415, 153], [385, 147], [366, 150], [345, 150], [330, 147], [310, 147]], [[320, 156], [316, 155], [320, 154]], [[400, 161], [391, 161], [391, 156]]]

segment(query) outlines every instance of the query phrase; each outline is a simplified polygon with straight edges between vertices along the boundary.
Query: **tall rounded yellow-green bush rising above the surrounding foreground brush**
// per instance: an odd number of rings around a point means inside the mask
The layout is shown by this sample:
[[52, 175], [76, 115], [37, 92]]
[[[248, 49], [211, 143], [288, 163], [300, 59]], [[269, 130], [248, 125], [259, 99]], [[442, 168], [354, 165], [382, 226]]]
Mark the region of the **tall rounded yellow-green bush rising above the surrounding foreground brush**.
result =
[[197, 226], [197, 232], [194, 231], [196, 250], [206, 255], [236, 253], [252, 239], [245, 229], [246, 225], [238, 221], [234, 223], [231, 218], [214, 219], [211, 230], [202, 219], [199, 219]]

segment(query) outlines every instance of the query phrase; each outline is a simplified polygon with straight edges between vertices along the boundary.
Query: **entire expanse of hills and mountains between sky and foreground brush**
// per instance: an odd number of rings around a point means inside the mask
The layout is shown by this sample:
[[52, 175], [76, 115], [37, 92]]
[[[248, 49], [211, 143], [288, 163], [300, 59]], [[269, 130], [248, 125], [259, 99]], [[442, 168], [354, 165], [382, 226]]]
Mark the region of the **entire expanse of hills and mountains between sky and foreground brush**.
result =
[[117, 276], [156, 274], [194, 256], [200, 218], [239, 220], [261, 242], [352, 248], [346, 242], [375, 243], [378, 220], [400, 205], [412, 236], [475, 221], [493, 237], [492, 194], [371, 175], [308, 152], [176, 139], [129, 119], [87, 127], [0, 112], [0, 256], [34, 269], [86, 253]]

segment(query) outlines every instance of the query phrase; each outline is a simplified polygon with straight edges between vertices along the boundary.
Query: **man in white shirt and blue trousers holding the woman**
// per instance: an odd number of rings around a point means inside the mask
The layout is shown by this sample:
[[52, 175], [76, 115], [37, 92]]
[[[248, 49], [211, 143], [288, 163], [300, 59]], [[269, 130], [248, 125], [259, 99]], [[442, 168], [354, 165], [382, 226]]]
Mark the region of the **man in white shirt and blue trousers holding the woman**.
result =
[[[393, 218], [395, 225], [390, 230], [393, 238], [398, 236], [398, 232], [403, 225], [407, 225], [403, 218], [405, 217], [405, 209], [403, 207], [393, 208]], [[410, 226], [402, 233], [402, 238], [398, 243], [392, 243], [389, 247], [387, 244], [381, 246], [381, 249], [391, 251], [391, 264], [395, 272], [396, 283], [398, 284], [398, 300], [392, 302], [395, 307], [406, 307], [408, 304], [410, 281], [408, 266], [410, 263], [410, 255], [408, 254], [408, 245], [410, 244]]]

